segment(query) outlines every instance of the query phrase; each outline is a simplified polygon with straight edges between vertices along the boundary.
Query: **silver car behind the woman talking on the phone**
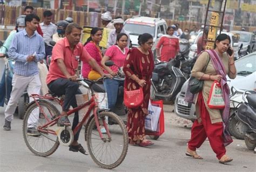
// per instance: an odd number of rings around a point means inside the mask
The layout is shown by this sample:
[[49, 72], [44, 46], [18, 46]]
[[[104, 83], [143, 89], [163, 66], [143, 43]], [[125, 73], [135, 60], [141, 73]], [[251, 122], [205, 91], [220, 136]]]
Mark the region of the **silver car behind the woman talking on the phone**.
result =
[[[240, 90], [256, 90], [256, 52], [248, 54], [241, 59], [235, 61], [237, 68], [237, 77], [232, 80], [227, 76], [229, 87], [232, 86]], [[174, 102], [174, 111], [177, 116], [189, 120], [196, 120], [196, 107], [192, 103], [185, 101], [185, 93], [188, 80], [181, 87], [180, 92], [176, 96]]]

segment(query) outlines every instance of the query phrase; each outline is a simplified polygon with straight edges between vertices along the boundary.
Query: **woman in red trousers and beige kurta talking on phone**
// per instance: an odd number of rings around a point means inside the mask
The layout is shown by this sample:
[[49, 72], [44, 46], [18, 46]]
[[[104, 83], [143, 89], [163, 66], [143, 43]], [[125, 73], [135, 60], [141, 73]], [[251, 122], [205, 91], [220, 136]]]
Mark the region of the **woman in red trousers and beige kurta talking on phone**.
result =
[[[214, 50], [202, 52], [192, 69], [193, 77], [204, 80], [203, 90], [194, 95], [196, 97], [197, 120], [194, 121], [191, 128], [191, 139], [188, 141], [186, 152], [187, 156], [191, 156], [194, 159], [203, 159], [197, 154], [196, 149], [208, 138], [220, 163], [233, 160], [226, 155], [225, 148], [233, 141], [227, 130], [230, 100], [226, 75], [232, 79], [237, 75], [237, 70], [234, 66], [234, 53], [231, 56], [226, 53], [230, 42], [230, 37], [227, 34], [218, 35], [215, 40]], [[203, 73], [202, 71], [209, 58], [211, 60]], [[210, 109], [207, 105], [211, 85], [214, 81], [220, 82], [223, 90], [225, 108], [222, 110]], [[186, 99], [191, 99], [189, 94], [186, 94]]]

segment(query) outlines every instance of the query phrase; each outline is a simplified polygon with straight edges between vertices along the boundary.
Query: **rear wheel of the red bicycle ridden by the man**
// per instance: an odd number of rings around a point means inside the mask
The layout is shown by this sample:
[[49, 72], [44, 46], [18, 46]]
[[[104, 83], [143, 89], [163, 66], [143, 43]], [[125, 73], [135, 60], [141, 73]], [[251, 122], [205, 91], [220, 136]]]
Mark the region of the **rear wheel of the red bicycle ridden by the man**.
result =
[[[37, 156], [49, 156], [59, 146], [58, 137], [48, 132], [39, 132], [37, 129], [39, 126], [43, 126], [48, 121], [51, 121], [51, 118], [57, 116], [60, 112], [49, 102], [44, 100], [37, 101], [42, 107], [42, 111], [39, 113], [39, 107], [35, 102], [29, 105], [23, 120], [23, 138], [26, 146], [28, 146], [33, 154]], [[48, 128], [44, 129], [48, 130]]]

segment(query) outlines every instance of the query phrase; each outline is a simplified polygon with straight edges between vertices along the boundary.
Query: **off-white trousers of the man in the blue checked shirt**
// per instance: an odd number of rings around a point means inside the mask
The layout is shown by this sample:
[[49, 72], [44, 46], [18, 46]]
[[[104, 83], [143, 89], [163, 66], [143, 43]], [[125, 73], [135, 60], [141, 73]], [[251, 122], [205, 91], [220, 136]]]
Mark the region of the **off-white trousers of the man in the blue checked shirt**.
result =
[[[34, 76], [22, 76], [14, 74], [14, 76], [12, 77], [11, 97], [4, 111], [5, 119], [8, 121], [12, 121], [14, 119], [14, 112], [18, 104], [18, 100], [19, 98], [21, 98], [25, 90], [28, 92], [28, 95], [30, 96], [31, 94], [40, 95], [40, 89], [41, 82], [38, 74]], [[29, 102], [32, 101], [33, 98], [30, 97]], [[36, 126], [37, 121], [39, 119], [39, 109], [36, 111], [34, 110], [33, 112], [37, 113], [37, 115], [32, 115], [29, 118], [29, 126]]]

